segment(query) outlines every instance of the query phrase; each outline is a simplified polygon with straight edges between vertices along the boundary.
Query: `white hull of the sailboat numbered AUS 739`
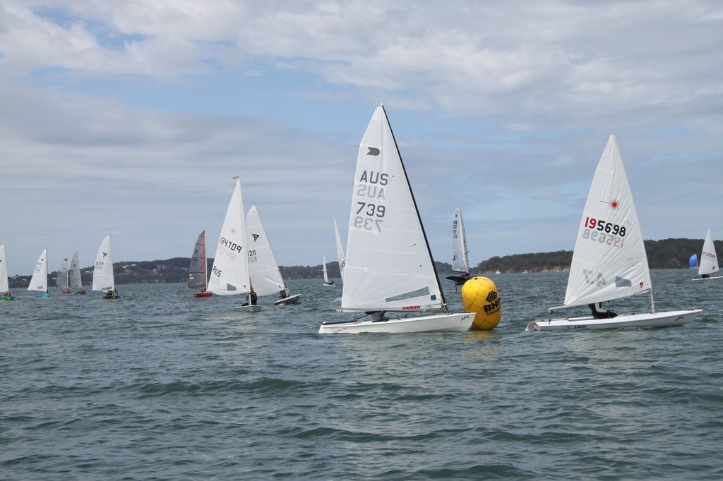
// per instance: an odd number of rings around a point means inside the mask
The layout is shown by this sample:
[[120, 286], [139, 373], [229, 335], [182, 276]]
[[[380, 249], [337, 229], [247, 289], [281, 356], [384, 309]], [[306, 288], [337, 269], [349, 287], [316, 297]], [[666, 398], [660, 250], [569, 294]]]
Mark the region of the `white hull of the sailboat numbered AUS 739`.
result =
[[322, 322], [319, 334], [359, 334], [361, 332], [466, 332], [474, 313], [435, 314], [387, 321]]

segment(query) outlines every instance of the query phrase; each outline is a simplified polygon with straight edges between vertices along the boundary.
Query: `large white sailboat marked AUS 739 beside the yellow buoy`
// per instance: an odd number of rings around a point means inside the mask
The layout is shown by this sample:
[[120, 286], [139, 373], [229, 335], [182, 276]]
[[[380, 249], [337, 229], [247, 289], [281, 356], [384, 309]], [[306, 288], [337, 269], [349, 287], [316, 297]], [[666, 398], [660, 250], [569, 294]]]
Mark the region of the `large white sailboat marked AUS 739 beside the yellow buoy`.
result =
[[[320, 334], [464, 332], [475, 315], [447, 309], [383, 105], [376, 108], [359, 145], [343, 282], [341, 311], [369, 317], [322, 322]], [[437, 312], [407, 317], [431, 310]], [[400, 312], [387, 316], [390, 311]]]

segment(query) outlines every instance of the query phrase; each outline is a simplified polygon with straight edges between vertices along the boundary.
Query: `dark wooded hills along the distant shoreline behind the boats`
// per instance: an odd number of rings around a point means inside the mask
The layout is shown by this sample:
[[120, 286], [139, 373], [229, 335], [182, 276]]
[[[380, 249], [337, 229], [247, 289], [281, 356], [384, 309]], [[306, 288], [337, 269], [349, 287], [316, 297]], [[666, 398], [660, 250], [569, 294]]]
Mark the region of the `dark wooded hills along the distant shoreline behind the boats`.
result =
[[[721, 259], [723, 241], [714, 241], [716, 254]], [[648, 253], [648, 264], [651, 269], [681, 269], [688, 267], [688, 259], [693, 254], [701, 256], [703, 239], [665, 239], [664, 241], [645, 241]], [[500, 272], [558, 272], [570, 269], [573, 259], [572, 251], [538, 252], [534, 254], [513, 254], [511, 256], [492, 257], [472, 268], [473, 274], [492, 274]], [[174, 257], [163, 261], [130, 261], [115, 262], [117, 284], [157, 284], [159, 282], [187, 282], [191, 259]], [[213, 259], [208, 259], [208, 269], [213, 266]], [[453, 274], [451, 264], [435, 261], [437, 274], [446, 277]], [[338, 262], [328, 262], [329, 277], [339, 278]], [[281, 274], [290, 279], [322, 279], [322, 265], [315, 266], [282, 266]], [[85, 267], [81, 272], [83, 285], [90, 285], [93, 280], [93, 267]], [[49, 274], [49, 285], [55, 285], [57, 272]], [[10, 287], [27, 287], [30, 274], [10, 278]]]

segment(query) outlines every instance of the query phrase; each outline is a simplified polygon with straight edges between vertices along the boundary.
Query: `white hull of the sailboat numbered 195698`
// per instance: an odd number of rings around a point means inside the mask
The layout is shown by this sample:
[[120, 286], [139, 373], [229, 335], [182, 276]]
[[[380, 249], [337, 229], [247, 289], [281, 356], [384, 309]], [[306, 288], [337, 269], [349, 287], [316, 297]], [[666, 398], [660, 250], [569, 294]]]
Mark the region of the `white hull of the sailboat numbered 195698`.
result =
[[576, 329], [618, 329], [623, 327], [682, 326], [696, 319], [703, 309], [641, 314], [622, 314], [609, 319], [577, 316], [561, 319], [540, 319], [527, 324], [526, 331], [568, 331]]

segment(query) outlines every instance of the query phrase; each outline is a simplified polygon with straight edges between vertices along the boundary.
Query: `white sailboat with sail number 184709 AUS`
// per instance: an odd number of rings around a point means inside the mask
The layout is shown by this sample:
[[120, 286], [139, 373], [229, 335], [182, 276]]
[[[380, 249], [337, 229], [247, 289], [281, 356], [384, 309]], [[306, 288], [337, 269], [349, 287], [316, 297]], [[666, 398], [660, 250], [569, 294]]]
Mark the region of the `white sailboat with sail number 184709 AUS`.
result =
[[236, 179], [234, 194], [228, 202], [226, 218], [221, 227], [221, 236], [216, 245], [208, 290], [218, 295], [244, 295], [250, 302], [234, 309], [245, 312], [261, 310], [255, 301], [255, 293], [249, 279], [249, 255], [246, 241], [246, 222], [244, 221], [244, 199], [241, 196], [241, 179]]

